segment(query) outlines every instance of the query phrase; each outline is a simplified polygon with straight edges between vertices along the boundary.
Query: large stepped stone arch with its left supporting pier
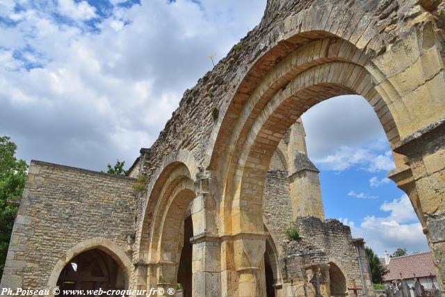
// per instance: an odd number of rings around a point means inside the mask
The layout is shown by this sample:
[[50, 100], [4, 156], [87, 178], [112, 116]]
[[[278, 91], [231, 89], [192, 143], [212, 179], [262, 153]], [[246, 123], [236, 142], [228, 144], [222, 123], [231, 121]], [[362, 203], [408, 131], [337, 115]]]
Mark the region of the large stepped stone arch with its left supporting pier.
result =
[[[389, 81], [388, 70], [375, 60], [372, 48], [381, 41], [375, 22], [332, 6], [289, 17], [280, 28], [283, 38], [257, 59], [220, 115], [207, 161], [220, 180], [219, 231], [234, 234], [239, 282], [232, 294], [264, 294], [258, 285], [258, 255], [265, 250], [260, 215], [264, 180], [284, 132], [302, 113], [324, 99], [356, 94], [375, 110], [391, 147], [415, 131], [407, 119], [416, 118], [416, 111], [401, 99], [400, 81]], [[398, 168], [409, 166], [405, 156], [393, 154]], [[410, 195], [412, 201], [415, 196]], [[419, 207], [416, 211], [424, 223]]]

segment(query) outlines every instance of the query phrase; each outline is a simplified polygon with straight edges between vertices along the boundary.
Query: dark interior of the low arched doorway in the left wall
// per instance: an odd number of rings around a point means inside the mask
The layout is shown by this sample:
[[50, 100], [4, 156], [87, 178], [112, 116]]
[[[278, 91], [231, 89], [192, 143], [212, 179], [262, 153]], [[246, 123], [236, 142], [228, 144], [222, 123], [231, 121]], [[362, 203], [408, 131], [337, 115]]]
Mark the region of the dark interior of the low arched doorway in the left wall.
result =
[[124, 269], [106, 252], [94, 248], [72, 258], [60, 272], [57, 285], [61, 291], [125, 289]]

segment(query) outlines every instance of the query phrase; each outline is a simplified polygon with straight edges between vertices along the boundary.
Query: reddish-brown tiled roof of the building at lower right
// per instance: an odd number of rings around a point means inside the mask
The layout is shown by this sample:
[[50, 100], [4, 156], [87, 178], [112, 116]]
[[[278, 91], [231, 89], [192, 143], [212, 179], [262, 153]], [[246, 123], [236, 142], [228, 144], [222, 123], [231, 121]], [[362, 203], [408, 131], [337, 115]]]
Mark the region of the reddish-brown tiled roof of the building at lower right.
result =
[[385, 260], [382, 262], [383, 266], [389, 269], [389, 273], [383, 277], [383, 280], [396, 280], [401, 278], [423, 278], [429, 276], [430, 273], [435, 275], [434, 264], [429, 252], [422, 252], [420, 254], [402, 256], [391, 258], [388, 265], [385, 265]]

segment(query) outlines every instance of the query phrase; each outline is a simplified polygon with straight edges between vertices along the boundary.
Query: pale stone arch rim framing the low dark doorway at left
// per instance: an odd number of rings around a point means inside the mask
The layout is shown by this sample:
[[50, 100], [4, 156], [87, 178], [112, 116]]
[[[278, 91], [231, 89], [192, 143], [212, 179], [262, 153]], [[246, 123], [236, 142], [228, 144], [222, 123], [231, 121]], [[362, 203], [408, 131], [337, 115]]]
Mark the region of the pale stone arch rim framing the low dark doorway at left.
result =
[[70, 262], [71, 259], [76, 257], [76, 255], [81, 254], [82, 252], [86, 252], [94, 248], [106, 252], [107, 255], [110, 255], [115, 260], [115, 262], [117, 262], [119, 266], [121, 266], [124, 271], [125, 287], [128, 287], [129, 275], [132, 268], [131, 261], [124, 250], [120, 248], [120, 246], [118, 246], [113, 241], [105, 239], [103, 237], [86, 239], [85, 241], [77, 243], [76, 246], [73, 246], [72, 248], [67, 250], [65, 254], [63, 254], [60, 259], [58, 259], [58, 262], [51, 271], [51, 275], [49, 275], [49, 280], [47, 283], [48, 287], [56, 287], [60, 272], [63, 270], [65, 265]]

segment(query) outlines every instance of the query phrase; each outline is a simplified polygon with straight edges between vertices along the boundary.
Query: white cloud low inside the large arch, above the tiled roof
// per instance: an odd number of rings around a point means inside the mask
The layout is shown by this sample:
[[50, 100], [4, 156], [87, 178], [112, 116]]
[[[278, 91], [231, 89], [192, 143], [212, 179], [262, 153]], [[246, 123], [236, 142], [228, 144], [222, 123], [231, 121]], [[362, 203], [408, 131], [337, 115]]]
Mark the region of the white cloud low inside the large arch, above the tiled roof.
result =
[[366, 246], [379, 255], [401, 247], [410, 251], [428, 250], [426, 236], [407, 195], [383, 203], [380, 209], [388, 212], [388, 216], [366, 216], [358, 226], [347, 218], [341, 221], [351, 227], [353, 236], [364, 238]]

